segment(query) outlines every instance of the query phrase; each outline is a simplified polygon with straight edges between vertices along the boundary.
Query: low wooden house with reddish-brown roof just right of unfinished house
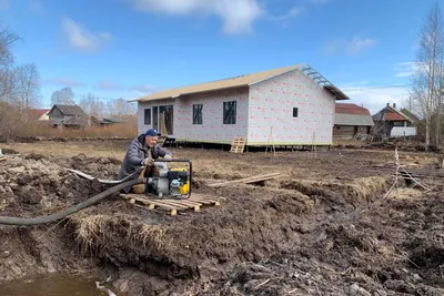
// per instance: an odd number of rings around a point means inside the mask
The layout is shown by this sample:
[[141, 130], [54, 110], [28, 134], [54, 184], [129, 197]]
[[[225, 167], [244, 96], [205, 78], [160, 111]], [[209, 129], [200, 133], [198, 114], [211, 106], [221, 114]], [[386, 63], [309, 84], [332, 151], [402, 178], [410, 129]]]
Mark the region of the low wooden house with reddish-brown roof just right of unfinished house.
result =
[[374, 125], [370, 111], [350, 103], [336, 103], [334, 115], [334, 137], [353, 137], [370, 134]]

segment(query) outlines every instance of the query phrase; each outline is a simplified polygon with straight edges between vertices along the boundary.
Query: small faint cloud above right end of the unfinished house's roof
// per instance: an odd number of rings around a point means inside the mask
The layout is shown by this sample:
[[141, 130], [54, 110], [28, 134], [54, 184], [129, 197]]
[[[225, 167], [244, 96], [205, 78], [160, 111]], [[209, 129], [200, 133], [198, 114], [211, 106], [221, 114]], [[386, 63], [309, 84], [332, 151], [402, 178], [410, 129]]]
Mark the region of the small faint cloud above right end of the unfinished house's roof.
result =
[[372, 38], [353, 37], [352, 39], [339, 38], [330, 40], [324, 45], [324, 51], [330, 54], [347, 53], [357, 54], [377, 44]]

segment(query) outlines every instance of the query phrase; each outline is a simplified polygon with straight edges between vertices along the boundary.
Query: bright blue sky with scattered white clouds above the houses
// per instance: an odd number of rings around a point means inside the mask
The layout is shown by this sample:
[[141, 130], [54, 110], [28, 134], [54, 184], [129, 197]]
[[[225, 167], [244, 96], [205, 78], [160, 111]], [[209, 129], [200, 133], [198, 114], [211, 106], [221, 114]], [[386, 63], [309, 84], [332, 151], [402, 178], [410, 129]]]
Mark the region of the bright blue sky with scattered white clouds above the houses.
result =
[[444, 0], [0, 0], [42, 103], [107, 101], [307, 63], [372, 114], [406, 106], [424, 20]]

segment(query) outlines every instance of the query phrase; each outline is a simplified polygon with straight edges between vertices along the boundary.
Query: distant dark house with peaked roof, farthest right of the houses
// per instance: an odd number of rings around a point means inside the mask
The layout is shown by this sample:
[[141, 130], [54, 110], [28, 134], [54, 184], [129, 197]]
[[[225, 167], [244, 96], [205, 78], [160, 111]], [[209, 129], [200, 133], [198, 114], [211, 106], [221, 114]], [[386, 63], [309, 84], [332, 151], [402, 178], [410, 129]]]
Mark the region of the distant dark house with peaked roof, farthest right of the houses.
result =
[[384, 109], [374, 114], [375, 123], [373, 135], [383, 137], [410, 136], [416, 135], [414, 120], [405, 113], [396, 109], [396, 104], [392, 106], [390, 103]]

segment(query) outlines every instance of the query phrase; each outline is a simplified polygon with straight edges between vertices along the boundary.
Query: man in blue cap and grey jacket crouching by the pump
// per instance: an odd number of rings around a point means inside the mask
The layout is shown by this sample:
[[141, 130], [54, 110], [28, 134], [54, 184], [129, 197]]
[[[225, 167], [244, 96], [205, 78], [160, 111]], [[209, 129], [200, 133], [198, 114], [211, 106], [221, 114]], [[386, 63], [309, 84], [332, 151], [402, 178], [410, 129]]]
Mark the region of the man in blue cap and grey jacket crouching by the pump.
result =
[[[119, 171], [119, 180], [133, 174], [141, 166], [153, 165], [154, 160], [159, 157], [163, 157], [164, 160], [172, 159], [171, 152], [158, 145], [159, 135], [161, 134], [157, 130], [150, 129], [144, 134], [141, 134], [131, 141]], [[155, 165], [167, 169], [165, 163], [157, 162]], [[133, 178], [143, 177], [142, 175], [143, 173], [141, 173], [140, 176], [134, 175]], [[131, 190], [134, 193], [143, 193], [144, 184], [127, 187], [124, 188], [124, 192], [129, 193]]]

